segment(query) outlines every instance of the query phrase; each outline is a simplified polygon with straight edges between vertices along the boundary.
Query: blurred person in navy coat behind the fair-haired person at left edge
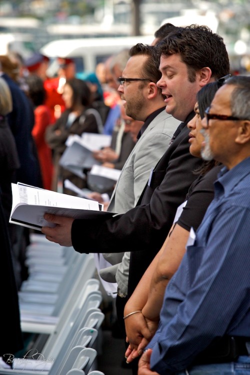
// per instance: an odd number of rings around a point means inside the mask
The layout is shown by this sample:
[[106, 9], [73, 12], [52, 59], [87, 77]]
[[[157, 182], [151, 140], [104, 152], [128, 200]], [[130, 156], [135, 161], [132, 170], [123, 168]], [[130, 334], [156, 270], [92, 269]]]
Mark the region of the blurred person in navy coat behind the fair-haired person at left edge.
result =
[[[42, 187], [40, 165], [31, 131], [34, 125], [32, 105], [18, 84], [10, 78], [16, 64], [7, 56], [0, 56], [0, 77], [8, 85], [12, 99], [12, 111], [7, 114], [9, 128], [14, 136], [20, 168], [16, 171], [16, 180], [28, 185]], [[29, 229], [16, 228], [16, 242], [13, 251], [21, 265], [21, 280], [27, 278], [25, 266], [26, 247], [29, 244]]]

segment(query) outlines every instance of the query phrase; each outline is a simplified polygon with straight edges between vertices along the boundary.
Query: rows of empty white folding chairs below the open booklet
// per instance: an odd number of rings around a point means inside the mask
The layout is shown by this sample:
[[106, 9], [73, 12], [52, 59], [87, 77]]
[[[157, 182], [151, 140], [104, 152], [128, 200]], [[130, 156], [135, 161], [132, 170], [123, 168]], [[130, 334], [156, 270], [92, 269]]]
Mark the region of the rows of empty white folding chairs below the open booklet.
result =
[[96, 369], [104, 314], [93, 256], [32, 234], [26, 264], [29, 277], [19, 291], [21, 328], [36, 339], [27, 357], [14, 358], [12, 368], [0, 368], [0, 374], [104, 375]]

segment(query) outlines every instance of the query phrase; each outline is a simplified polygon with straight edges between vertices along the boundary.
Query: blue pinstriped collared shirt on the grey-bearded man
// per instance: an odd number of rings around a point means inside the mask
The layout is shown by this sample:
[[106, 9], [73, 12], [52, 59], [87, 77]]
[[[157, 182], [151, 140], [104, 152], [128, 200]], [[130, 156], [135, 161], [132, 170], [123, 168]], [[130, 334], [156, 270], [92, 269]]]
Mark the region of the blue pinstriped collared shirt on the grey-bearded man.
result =
[[150, 366], [170, 374], [216, 337], [250, 337], [250, 158], [223, 168], [193, 246], [168, 283]]

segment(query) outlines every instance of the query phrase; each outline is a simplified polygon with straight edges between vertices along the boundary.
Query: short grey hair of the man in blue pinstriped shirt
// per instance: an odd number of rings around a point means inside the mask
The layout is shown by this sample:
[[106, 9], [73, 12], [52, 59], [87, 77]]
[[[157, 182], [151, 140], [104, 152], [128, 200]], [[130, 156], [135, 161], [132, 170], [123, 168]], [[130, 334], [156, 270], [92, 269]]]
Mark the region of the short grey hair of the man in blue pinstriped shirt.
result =
[[232, 116], [250, 120], [250, 77], [232, 76], [224, 85], [235, 86], [231, 94]]

